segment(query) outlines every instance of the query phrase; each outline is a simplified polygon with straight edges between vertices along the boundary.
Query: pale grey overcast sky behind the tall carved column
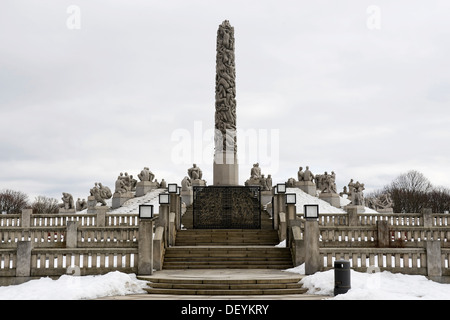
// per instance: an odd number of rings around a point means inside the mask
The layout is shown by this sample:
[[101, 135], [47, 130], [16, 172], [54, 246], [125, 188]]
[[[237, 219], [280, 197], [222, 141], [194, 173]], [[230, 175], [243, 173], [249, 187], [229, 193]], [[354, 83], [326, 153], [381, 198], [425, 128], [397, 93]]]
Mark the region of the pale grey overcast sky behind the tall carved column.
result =
[[448, 1], [0, 2], [0, 189], [87, 198], [148, 166], [212, 184], [217, 28], [235, 28], [240, 183], [415, 169], [450, 187]]

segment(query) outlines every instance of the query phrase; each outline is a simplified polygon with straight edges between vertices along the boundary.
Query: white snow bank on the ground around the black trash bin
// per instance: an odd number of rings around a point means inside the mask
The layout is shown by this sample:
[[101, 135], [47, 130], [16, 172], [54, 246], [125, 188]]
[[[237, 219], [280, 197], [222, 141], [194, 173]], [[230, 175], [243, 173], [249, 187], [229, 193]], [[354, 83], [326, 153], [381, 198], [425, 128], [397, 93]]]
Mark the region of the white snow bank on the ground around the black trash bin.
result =
[[[305, 265], [285, 270], [305, 274]], [[450, 284], [428, 280], [420, 275], [388, 271], [364, 273], [350, 270], [351, 289], [332, 300], [450, 300]], [[334, 270], [306, 276], [301, 283], [309, 294], [333, 296]]]

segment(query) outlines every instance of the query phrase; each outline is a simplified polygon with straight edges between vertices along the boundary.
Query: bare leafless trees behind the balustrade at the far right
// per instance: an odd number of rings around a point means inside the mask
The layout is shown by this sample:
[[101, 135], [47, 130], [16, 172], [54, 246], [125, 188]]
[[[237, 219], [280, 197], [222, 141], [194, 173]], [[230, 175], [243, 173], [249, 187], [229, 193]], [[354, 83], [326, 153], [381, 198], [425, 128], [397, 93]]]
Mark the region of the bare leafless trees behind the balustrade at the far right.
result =
[[388, 194], [396, 213], [420, 213], [425, 208], [443, 213], [450, 210], [450, 189], [435, 187], [420, 172], [411, 170], [399, 175], [390, 184], [372, 192], [366, 198]]

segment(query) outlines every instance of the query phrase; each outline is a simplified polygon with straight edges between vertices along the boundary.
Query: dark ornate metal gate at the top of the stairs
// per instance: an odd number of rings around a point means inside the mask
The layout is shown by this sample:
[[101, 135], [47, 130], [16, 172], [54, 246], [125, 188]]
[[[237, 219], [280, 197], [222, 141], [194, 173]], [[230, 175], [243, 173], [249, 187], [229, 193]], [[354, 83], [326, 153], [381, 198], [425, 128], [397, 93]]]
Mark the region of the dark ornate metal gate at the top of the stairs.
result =
[[260, 229], [260, 187], [194, 186], [194, 229]]

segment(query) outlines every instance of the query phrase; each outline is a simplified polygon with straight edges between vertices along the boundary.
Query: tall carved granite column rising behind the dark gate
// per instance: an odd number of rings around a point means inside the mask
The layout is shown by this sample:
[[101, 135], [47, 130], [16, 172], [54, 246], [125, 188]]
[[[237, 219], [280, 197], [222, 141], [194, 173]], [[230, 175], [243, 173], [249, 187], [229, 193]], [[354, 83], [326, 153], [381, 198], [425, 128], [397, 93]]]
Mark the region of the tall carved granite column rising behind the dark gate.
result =
[[213, 184], [239, 184], [236, 137], [234, 28], [228, 20], [217, 31]]

